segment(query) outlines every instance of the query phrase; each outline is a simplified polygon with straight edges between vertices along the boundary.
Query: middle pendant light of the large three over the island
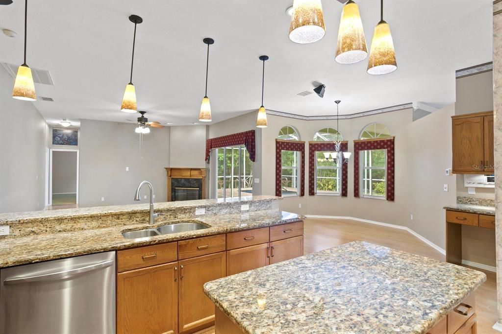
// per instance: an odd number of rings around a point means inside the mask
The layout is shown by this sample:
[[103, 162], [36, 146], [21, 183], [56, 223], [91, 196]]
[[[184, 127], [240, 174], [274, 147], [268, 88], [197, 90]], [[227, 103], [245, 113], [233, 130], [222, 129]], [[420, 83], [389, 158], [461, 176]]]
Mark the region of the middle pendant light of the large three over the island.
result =
[[340, 64], [352, 64], [363, 60], [367, 55], [359, 7], [349, 0], [342, 10], [335, 60]]

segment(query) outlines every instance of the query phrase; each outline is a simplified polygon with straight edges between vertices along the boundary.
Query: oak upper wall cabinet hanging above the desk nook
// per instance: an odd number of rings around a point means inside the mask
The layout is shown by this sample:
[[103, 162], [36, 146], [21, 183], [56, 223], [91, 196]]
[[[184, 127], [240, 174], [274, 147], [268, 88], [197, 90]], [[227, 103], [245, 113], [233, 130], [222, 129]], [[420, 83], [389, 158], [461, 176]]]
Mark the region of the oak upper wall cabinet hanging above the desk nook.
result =
[[454, 174], [493, 173], [493, 111], [452, 116]]

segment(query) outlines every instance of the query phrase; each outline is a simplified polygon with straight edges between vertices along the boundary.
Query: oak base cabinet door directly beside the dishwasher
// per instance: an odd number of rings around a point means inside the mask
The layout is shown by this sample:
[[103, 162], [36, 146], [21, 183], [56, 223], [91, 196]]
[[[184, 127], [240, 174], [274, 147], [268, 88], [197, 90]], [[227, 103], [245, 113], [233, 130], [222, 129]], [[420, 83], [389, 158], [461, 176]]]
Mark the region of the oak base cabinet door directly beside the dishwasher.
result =
[[177, 262], [117, 274], [117, 333], [178, 332]]

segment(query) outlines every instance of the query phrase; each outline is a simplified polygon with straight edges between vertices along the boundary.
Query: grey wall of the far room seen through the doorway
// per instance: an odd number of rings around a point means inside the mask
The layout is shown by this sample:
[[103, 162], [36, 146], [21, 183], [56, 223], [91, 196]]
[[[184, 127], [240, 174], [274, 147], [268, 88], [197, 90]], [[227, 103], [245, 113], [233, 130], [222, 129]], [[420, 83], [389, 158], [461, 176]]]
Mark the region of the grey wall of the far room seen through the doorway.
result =
[[52, 194], [77, 192], [77, 152], [52, 152]]

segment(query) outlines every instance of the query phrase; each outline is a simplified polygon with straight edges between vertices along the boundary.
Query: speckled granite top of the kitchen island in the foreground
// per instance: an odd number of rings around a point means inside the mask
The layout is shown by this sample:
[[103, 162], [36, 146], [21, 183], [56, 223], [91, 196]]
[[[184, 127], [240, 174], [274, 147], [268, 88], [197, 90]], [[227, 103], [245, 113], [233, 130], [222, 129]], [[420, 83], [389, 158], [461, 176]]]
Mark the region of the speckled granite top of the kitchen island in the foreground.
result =
[[482, 272], [355, 241], [204, 284], [245, 333], [424, 333]]

